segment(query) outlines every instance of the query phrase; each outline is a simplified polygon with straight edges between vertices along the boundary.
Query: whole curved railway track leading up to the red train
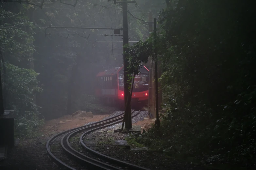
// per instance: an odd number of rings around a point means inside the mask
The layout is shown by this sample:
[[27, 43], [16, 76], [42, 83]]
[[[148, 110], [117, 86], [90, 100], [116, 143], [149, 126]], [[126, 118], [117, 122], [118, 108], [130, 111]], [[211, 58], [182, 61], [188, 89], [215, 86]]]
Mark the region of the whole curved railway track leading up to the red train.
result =
[[[139, 113], [140, 111], [132, 110], [132, 117]], [[88, 170], [92, 168], [100, 170], [148, 170], [144, 167], [101, 154], [89, 148], [86, 142], [84, 142], [86, 135], [95, 130], [122, 122], [123, 118], [124, 112], [111, 118], [70, 129], [52, 136], [46, 143], [46, 150], [49, 157], [59, 166], [69, 170]], [[87, 142], [88, 140], [91, 143], [94, 142], [92, 137], [87, 138]]]

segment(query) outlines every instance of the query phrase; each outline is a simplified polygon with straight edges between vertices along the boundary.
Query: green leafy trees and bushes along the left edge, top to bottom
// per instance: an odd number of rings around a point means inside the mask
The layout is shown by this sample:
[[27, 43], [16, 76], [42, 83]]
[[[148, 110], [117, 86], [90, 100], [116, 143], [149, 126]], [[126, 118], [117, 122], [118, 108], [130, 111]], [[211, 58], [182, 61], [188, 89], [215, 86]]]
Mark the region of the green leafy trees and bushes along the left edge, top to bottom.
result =
[[[31, 32], [34, 26], [24, 13], [26, 9], [23, 6], [19, 13], [0, 10], [1, 77], [5, 109], [14, 110], [16, 136], [34, 137], [43, 124], [34, 99], [43, 90], [38, 87], [39, 74], [27, 67], [33, 62], [35, 49]], [[27, 68], [20, 68], [24, 65]]]

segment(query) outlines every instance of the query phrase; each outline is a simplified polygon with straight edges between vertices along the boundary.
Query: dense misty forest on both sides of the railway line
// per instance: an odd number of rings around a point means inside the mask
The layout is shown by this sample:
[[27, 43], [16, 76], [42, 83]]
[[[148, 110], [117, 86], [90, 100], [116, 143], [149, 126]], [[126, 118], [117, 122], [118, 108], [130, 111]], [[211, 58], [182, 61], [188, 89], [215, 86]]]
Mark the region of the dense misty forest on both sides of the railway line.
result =
[[[119, 5], [45, 1], [41, 9], [41, 2], [33, 3], [38, 6], [1, 2], [0, 9], [4, 105], [15, 110], [21, 137], [35, 136], [44, 119], [96, 109], [94, 76], [122, 65], [122, 55], [116, 55], [122, 44], [96, 42], [122, 40], [104, 36], [112, 35], [110, 30], [44, 33], [49, 25], [121, 28]], [[167, 108], [161, 127], [152, 127], [137, 142], [188, 162], [256, 166], [253, 7], [252, 1], [228, 0], [137, 0], [128, 6], [129, 38], [139, 41], [130, 44], [128, 57], [135, 67], [152, 54], [161, 61]], [[158, 31], [148, 37], [142, 22], [150, 11]]]

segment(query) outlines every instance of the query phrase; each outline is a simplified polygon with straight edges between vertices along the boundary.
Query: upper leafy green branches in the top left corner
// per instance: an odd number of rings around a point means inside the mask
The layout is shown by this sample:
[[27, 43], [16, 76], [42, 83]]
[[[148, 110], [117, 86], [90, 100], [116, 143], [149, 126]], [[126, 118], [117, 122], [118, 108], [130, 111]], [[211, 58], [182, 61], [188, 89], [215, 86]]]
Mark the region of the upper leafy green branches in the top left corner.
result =
[[0, 16], [0, 45], [8, 61], [29, 60], [35, 51], [31, 32], [34, 25], [28, 21], [24, 12], [14, 14], [0, 10], [0, 14], [6, 14]]

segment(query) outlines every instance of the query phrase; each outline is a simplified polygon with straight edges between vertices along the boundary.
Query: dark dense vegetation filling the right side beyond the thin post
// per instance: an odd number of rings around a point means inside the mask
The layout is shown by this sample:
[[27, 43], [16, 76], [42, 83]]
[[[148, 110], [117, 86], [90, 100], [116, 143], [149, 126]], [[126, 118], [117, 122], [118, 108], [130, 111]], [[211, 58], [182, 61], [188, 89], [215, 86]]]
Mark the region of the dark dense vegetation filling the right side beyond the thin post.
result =
[[[226, 0], [173, 0], [162, 10], [162, 35], [151, 47], [162, 61], [160, 81], [168, 114], [162, 116], [159, 129], [143, 135], [143, 144], [202, 163], [255, 168], [252, 6]], [[153, 39], [131, 46], [135, 54], [130, 52], [130, 57], [148, 50]]]

